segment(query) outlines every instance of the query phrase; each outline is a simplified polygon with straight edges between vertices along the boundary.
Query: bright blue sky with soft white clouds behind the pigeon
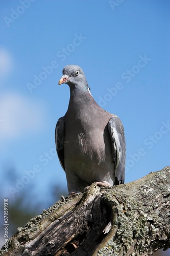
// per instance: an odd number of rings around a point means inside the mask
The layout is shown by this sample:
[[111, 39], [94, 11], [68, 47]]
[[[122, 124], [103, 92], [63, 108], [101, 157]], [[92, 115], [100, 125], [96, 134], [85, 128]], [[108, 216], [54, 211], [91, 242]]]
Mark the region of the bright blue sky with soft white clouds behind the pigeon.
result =
[[125, 181], [169, 165], [170, 2], [114, 3], [1, 1], [3, 197], [29, 189], [28, 200], [46, 208], [52, 185], [66, 189], [54, 132], [68, 106], [69, 88], [58, 80], [69, 64], [82, 67], [96, 102], [124, 124]]

